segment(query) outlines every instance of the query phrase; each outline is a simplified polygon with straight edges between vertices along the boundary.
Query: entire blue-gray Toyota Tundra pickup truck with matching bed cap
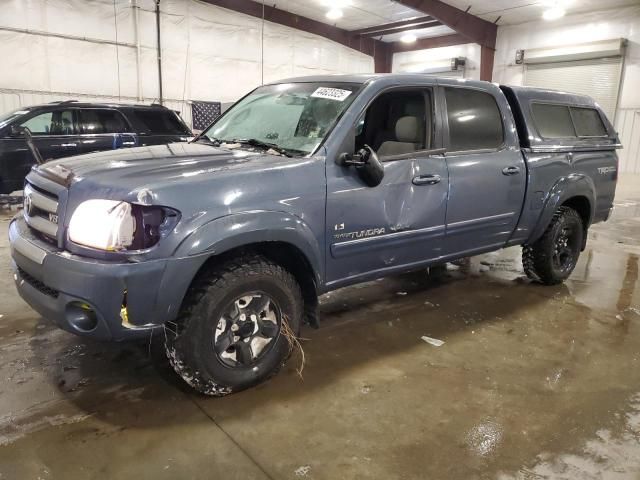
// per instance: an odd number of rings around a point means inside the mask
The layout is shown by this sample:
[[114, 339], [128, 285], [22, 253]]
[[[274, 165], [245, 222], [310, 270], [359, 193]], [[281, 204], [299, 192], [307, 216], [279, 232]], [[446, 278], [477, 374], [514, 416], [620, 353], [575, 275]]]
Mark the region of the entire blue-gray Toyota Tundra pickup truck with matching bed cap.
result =
[[555, 284], [607, 220], [620, 147], [589, 97], [424, 75], [261, 86], [190, 143], [34, 167], [10, 224], [22, 298], [79, 335], [164, 329], [225, 395], [287, 359], [317, 296], [514, 245]]

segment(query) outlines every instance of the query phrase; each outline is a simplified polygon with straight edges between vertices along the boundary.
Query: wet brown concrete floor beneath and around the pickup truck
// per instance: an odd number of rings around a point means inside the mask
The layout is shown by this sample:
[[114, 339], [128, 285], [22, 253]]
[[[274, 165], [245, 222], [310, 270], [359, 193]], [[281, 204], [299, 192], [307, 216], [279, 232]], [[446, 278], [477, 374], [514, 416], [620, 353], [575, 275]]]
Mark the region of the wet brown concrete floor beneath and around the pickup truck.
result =
[[[17, 296], [0, 216], [0, 479], [638, 479], [640, 178], [570, 281], [519, 249], [322, 299], [296, 362], [223, 399], [155, 347], [59, 331]], [[444, 340], [435, 347], [421, 337]]]

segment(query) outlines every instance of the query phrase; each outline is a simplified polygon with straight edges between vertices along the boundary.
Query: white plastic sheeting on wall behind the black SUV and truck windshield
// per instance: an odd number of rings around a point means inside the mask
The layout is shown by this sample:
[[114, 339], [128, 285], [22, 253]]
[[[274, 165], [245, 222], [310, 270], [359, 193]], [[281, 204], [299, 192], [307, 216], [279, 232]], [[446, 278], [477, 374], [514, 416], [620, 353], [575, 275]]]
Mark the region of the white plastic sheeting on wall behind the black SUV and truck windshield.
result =
[[[152, 0], [0, 0], [0, 113], [77, 98], [158, 98]], [[137, 22], [136, 22], [137, 18]], [[373, 59], [316, 35], [196, 0], [162, 0], [163, 96], [233, 102], [290, 76], [372, 72]]]

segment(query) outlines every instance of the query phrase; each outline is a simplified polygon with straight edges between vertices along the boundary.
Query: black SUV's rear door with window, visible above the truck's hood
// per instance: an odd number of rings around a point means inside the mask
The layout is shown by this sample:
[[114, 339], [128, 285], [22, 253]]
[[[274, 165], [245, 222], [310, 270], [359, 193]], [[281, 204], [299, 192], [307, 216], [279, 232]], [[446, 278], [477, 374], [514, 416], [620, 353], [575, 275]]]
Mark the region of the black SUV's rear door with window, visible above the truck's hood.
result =
[[83, 108], [78, 111], [78, 114], [81, 153], [136, 146], [136, 136], [118, 110]]

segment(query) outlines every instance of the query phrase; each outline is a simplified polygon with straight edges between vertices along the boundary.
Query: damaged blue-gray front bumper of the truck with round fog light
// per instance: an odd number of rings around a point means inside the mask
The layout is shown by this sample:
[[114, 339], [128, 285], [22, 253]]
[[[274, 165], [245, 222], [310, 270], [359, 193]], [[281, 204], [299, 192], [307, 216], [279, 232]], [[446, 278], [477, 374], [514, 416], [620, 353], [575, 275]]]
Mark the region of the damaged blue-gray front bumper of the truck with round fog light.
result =
[[[9, 241], [20, 296], [60, 328], [102, 340], [148, 336], [174, 319], [202, 262], [114, 263], [72, 255], [36, 237], [22, 217], [9, 225]], [[90, 321], [78, 321], [85, 312]]]

